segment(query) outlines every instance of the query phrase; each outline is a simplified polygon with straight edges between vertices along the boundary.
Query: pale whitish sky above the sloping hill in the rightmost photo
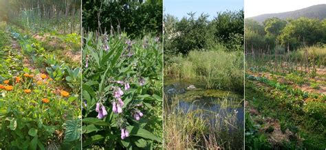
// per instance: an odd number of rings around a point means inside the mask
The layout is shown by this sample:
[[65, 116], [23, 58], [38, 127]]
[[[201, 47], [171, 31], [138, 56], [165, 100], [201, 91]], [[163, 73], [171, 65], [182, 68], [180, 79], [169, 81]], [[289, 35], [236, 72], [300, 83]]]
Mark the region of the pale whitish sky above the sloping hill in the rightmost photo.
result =
[[325, 0], [246, 0], [245, 18], [278, 12], [300, 10], [312, 5], [326, 3]]

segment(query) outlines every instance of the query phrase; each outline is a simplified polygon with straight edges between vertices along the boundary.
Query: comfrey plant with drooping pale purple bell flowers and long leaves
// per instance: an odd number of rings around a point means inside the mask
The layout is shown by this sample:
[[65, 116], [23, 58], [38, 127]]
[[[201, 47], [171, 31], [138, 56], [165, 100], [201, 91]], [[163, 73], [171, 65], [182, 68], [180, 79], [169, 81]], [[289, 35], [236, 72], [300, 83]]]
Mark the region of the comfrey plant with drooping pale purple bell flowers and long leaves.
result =
[[162, 108], [162, 51], [155, 38], [146, 39], [144, 49], [144, 40], [124, 34], [85, 38], [84, 148], [145, 149], [162, 142], [162, 114], [155, 110]]

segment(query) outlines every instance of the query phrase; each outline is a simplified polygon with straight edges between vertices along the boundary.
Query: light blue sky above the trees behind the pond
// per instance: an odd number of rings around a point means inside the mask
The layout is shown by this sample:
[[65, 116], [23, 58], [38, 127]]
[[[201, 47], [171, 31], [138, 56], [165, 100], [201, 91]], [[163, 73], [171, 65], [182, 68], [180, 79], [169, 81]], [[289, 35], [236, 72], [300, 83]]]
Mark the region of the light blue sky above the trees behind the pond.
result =
[[217, 12], [243, 9], [243, 0], [164, 0], [163, 3], [164, 13], [179, 19], [187, 16], [188, 12], [197, 12], [197, 16], [204, 12], [211, 19]]

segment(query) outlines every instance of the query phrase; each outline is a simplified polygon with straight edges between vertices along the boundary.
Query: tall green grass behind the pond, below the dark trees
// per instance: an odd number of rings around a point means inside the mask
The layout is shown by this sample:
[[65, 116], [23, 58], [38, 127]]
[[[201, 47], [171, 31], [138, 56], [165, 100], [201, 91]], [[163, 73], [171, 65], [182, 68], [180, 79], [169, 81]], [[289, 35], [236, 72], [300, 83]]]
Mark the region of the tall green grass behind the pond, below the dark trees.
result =
[[203, 79], [206, 88], [242, 91], [242, 55], [242, 52], [191, 51], [186, 57], [170, 58], [164, 74], [180, 79]]

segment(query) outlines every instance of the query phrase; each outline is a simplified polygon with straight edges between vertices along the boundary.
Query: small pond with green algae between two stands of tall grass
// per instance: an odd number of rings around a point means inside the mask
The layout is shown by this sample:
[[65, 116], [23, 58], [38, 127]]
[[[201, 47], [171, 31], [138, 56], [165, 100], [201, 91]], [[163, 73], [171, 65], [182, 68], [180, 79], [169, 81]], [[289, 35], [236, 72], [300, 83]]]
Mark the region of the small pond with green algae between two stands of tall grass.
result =
[[[178, 113], [197, 113], [215, 125], [218, 118], [235, 116], [237, 125], [243, 125], [243, 95], [227, 90], [207, 90], [197, 79], [164, 80], [164, 94], [169, 108]], [[173, 107], [171, 107], [173, 106]], [[168, 113], [169, 113], [168, 112]]]

